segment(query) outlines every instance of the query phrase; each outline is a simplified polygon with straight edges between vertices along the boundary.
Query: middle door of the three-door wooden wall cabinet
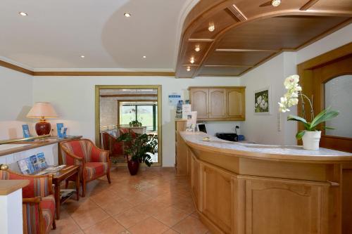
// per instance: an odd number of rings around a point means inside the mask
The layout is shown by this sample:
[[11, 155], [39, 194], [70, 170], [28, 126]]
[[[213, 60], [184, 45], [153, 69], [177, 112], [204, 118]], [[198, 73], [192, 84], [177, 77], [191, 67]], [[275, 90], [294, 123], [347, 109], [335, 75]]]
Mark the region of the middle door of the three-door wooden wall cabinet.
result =
[[209, 118], [226, 118], [226, 89], [209, 89]]

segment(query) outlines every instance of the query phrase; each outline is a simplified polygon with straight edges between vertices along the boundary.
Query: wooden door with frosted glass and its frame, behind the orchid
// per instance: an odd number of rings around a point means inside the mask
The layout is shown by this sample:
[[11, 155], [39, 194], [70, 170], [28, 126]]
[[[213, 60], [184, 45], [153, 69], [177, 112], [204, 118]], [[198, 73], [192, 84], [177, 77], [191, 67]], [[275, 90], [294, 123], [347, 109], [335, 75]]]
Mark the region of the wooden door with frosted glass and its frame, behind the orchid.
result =
[[[334, 129], [322, 131], [320, 147], [352, 152], [351, 64], [352, 43], [298, 65], [303, 91], [313, 98], [314, 115], [328, 107], [340, 112], [327, 122], [327, 126]], [[301, 112], [301, 105], [298, 105], [298, 112]]]

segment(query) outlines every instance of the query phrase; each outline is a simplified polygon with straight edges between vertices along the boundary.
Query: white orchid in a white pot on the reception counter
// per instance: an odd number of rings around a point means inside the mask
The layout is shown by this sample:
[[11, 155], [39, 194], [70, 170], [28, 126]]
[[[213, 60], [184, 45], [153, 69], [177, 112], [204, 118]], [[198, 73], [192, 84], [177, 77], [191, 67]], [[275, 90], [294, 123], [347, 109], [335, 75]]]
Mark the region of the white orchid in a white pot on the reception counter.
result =
[[[306, 95], [302, 93], [302, 88], [298, 84], [299, 76], [297, 74], [291, 75], [287, 77], [284, 81], [285, 89], [287, 89], [287, 93], [284, 94], [282, 98], [280, 98], [279, 102], [279, 112], [288, 112], [289, 108], [293, 105], [298, 104], [298, 97], [301, 97], [302, 103], [302, 117], [298, 117], [295, 115], [289, 115], [287, 120], [301, 122], [304, 126], [304, 130], [298, 131], [296, 134], [297, 139], [301, 139], [303, 141], [303, 148], [306, 150], [319, 150], [319, 142], [321, 131], [319, 129], [333, 129], [328, 126], [319, 126], [320, 124], [324, 124], [330, 119], [337, 117], [339, 112], [336, 110], [330, 110], [326, 108], [322, 110], [316, 117], [314, 117], [313, 112], [313, 98], [310, 100]], [[310, 122], [306, 120], [306, 112], [304, 109], [304, 98], [308, 100], [310, 105]]]

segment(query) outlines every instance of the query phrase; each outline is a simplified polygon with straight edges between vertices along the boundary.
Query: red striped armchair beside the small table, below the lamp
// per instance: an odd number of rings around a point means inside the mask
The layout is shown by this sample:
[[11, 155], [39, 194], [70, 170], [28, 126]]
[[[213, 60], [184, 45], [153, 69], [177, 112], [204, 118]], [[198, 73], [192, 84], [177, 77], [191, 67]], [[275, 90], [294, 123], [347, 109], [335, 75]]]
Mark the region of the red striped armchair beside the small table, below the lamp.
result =
[[[96, 147], [89, 139], [65, 141], [60, 143], [63, 164], [80, 166], [80, 181], [82, 183], [82, 196], [86, 193], [86, 184], [101, 176], [110, 180], [109, 151]], [[75, 181], [74, 177], [68, 178]]]

